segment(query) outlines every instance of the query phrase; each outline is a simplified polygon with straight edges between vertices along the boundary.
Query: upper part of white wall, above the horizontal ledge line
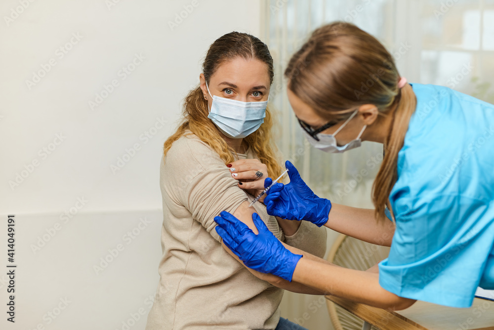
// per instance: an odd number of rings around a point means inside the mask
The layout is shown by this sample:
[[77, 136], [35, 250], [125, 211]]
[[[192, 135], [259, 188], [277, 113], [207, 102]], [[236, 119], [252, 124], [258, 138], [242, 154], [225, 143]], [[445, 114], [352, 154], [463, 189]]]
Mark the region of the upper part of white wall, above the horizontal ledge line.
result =
[[[8, 15], [18, 1], [2, 1], [0, 12]], [[59, 213], [80, 196], [86, 212], [161, 207], [162, 144], [199, 82], [207, 48], [232, 30], [259, 33], [257, 2], [192, 2], [121, 0], [108, 8], [105, 0], [45, 0], [27, 2], [9, 26], [2, 19], [2, 213]], [[193, 11], [171, 31], [168, 21], [184, 5]], [[71, 39], [77, 44], [67, 54], [57, 50]], [[144, 59], [125, 77], [120, 70], [135, 54]], [[28, 87], [50, 58], [56, 65]], [[91, 110], [88, 102], [113, 80], [119, 86]], [[167, 125], [149, 141], [141, 137], [162, 117]], [[59, 145], [51, 144], [56, 134], [64, 137]], [[140, 150], [114, 174], [111, 165], [135, 143]], [[42, 148], [50, 144], [48, 155]], [[22, 173], [35, 160], [39, 166]], [[11, 189], [17, 173], [27, 177]]]

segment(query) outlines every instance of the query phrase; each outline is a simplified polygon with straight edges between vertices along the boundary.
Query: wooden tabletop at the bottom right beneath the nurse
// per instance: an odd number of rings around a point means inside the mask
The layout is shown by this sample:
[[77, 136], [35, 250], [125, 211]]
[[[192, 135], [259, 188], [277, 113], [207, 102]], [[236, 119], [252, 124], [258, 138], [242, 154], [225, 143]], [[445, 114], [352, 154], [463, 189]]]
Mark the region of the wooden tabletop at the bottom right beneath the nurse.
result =
[[494, 301], [486, 299], [475, 298], [470, 308], [417, 301], [402, 311], [387, 311], [334, 296], [326, 298], [381, 330], [494, 330]]

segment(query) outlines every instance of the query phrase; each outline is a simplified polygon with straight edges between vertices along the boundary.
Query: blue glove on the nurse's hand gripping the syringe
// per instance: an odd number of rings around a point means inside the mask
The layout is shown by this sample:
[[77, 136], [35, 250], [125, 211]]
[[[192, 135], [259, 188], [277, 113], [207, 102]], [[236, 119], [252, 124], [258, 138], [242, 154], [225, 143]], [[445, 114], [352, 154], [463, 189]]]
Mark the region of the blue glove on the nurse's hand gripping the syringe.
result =
[[[318, 227], [328, 222], [331, 202], [329, 199], [318, 197], [300, 178], [297, 169], [288, 160], [290, 183], [275, 184], [266, 192], [264, 204], [269, 215], [288, 220], [306, 220]], [[271, 178], [264, 180], [264, 187], [272, 183]]]

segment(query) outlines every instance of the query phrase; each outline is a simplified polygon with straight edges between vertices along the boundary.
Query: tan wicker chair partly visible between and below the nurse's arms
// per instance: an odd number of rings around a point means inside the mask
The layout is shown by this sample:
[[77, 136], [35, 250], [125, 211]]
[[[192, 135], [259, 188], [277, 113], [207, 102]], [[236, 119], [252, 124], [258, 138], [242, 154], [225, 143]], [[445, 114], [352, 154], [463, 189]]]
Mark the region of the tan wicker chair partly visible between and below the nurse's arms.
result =
[[[386, 258], [388, 253], [389, 247], [340, 234], [329, 251], [328, 261], [345, 268], [366, 270]], [[374, 329], [332, 301], [326, 300], [326, 304], [335, 330]]]

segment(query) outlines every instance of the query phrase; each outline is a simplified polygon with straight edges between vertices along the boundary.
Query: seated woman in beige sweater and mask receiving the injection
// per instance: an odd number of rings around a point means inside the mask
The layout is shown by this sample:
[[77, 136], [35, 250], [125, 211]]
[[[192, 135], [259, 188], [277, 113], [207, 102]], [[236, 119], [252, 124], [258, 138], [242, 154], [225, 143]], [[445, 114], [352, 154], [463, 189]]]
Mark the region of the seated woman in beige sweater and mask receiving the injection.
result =
[[273, 76], [267, 46], [249, 34], [226, 34], [207, 51], [200, 86], [165, 141], [161, 279], [147, 330], [304, 329], [280, 318], [283, 289], [324, 294], [247, 269], [214, 230], [226, 210], [257, 234], [255, 212], [290, 251], [316, 259], [326, 251], [324, 227], [269, 216], [262, 199], [248, 207], [264, 179], [282, 172], [266, 109]]

